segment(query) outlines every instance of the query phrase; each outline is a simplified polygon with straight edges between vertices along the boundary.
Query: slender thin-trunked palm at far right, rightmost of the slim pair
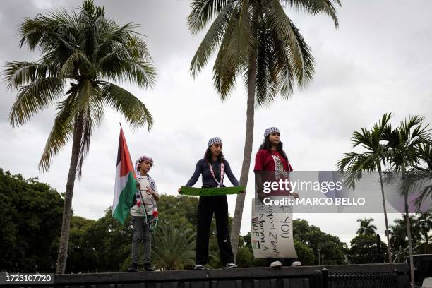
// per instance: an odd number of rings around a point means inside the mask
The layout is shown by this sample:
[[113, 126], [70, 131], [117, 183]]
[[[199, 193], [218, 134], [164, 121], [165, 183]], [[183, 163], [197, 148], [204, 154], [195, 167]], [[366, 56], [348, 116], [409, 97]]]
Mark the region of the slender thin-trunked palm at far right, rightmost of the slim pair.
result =
[[[392, 131], [388, 130], [383, 134], [383, 140], [388, 140], [390, 146], [390, 164], [395, 172], [402, 172], [402, 185], [401, 192], [404, 196], [404, 212], [405, 219], [407, 220], [407, 236], [408, 236], [408, 251], [409, 251], [409, 265], [411, 282], [414, 284], [414, 262], [412, 252], [412, 227], [409, 218], [408, 206], [408, 191], [412, 183], [409, 183], [408, 169], [419, 166], [423, 160], [419, 154], [421, 145], [428, 143], [431, 138], [428, 125], [422, 126], [422, 116], [409, 116], [400, 122], [400, 125]], [[406, 181], [405, 179], [408, 179]]]

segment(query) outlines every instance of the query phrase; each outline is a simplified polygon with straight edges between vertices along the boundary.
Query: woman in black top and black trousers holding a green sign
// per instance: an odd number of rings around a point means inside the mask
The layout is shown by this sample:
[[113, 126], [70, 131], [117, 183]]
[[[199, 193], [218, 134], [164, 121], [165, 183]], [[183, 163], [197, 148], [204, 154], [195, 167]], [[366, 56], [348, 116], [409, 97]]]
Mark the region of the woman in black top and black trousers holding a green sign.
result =
[[[222, 154], [222, 140], [219, 137], [208, 141], [208, 149], [204, 158], [196, 163], [195, 172], [185, 186], [196, 184], [200, 175], [203, 176], [203, 188], [223, 187], [224, 174], [234, 186], [239, 186], [227, 160]], [[180, 192], [180, 188], [179, 188]], [[196, 270], [203, 270], [208, 263], [208, 240], [213, 213], [216, 217], [217, 244], [224, 268], [236, 268], [234, 254], [228, 231], [228, 202], [226, 195], [200, 196], [198, 204], [198, 227], [196, 234]]]

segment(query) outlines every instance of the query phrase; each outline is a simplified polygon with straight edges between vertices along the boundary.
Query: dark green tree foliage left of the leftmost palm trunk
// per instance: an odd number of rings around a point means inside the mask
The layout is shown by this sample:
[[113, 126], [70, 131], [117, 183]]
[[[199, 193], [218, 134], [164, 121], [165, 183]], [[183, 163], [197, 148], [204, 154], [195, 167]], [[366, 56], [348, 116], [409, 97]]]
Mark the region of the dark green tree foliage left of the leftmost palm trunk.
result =
[[62, 210], [48, 184], [0, 169], [0, 270], [54, 272]]

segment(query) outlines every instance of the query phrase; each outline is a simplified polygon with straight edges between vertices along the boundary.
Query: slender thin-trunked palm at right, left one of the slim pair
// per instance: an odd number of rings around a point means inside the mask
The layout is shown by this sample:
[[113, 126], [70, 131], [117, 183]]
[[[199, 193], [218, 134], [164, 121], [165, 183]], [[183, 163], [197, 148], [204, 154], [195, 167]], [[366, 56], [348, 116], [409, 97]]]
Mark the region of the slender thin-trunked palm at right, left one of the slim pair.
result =
[[392, 255], [390, 251], [390, 236], [388, 229], [387, 208], [385, 207], [385, 195], [383, 186], [382, 165], [388, 158], [388, 145], [381, 143], [382, 136], [385, 131], [388, 131], [390, 126], [390, 114], [384, 114], [383, 118], [375, 124], [371, 131], [366, 128], [361, 128], [361, 132], [354, 131], [351, 138], [352, 147], [355, 148], [361, 145], [366, 149], [366, 152], [344, 153], [344, 157], [337, 162], [337, 169], [347, 176], [347, 185], [350, 188], [355, 188], [355, 182], [361, 179], [363, 172], [378, 171], [380, 177], [381, 197], [383, 200], [384, 220], [385, 220], [385, 236], [387, 238], [388, 263], [392, 263]]

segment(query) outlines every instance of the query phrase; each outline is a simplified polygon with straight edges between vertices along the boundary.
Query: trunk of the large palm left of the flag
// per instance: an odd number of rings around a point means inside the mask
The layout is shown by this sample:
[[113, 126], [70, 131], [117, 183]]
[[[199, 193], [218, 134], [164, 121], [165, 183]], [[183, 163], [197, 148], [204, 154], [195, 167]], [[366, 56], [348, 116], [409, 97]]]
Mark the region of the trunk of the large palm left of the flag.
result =
[[63, 205], [63, 220], [61, 222], [61, 236], [59, 243], [59, 256], [57, 256], [56, 274], [64, 274], [66, 259], [68, 257], [69, 229], [71, 227], [71, 210], [73, 186], [75, 184], [76, 168], [80, 155], [81, 136], [83, 132], [83, 114], [78, 116], [73, 130], [71, 164], [69, 166], [68, 181]]

